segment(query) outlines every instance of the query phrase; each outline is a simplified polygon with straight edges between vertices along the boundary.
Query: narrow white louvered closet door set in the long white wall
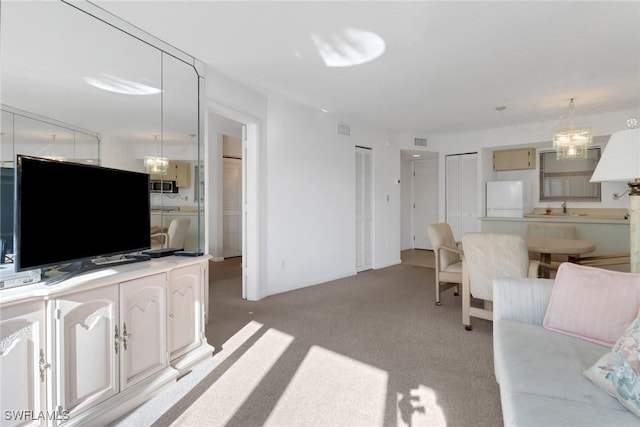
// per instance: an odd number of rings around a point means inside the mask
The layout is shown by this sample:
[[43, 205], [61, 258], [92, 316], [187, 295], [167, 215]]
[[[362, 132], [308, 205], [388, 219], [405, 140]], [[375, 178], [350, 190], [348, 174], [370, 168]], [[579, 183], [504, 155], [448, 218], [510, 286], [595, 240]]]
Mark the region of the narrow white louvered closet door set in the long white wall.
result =
[[356, 271], [372, 267], [372, 151], [356, 147]]

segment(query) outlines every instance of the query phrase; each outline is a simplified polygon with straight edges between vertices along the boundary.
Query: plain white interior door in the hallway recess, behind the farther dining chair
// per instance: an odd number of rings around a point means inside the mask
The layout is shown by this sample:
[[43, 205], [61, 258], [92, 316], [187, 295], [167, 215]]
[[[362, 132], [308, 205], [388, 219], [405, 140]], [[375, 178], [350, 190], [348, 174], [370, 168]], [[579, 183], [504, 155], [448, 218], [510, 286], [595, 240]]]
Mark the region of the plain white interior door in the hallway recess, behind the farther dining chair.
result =
[[413, 248], [433, 249], [427, 228], [438, 222], [438, 159], [413, 162]]

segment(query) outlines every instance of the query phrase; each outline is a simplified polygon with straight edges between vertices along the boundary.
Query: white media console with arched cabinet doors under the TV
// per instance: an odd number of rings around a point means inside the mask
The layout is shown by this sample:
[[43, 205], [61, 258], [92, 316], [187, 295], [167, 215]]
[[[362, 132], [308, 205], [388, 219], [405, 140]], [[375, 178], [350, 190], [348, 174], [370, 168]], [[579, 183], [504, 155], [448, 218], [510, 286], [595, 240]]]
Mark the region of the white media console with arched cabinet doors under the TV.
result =
[[210, 358], [209, 258], [0, 291], [0, 425], [105, 425]]

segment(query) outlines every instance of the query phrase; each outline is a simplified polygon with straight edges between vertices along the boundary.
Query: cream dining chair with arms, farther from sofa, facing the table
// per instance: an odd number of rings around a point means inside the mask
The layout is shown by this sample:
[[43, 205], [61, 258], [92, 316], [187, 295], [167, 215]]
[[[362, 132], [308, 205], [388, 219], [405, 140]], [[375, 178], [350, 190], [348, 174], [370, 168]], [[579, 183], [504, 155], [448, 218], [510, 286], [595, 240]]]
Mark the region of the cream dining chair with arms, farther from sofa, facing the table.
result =
[[451, 226], [441, 222], [429, 225], [429, 240], [436, 259], [436, 305], [440, 305], [440, 292], [454, 287], [459, 295], [462, 284], [462, 251], [453, 237]]

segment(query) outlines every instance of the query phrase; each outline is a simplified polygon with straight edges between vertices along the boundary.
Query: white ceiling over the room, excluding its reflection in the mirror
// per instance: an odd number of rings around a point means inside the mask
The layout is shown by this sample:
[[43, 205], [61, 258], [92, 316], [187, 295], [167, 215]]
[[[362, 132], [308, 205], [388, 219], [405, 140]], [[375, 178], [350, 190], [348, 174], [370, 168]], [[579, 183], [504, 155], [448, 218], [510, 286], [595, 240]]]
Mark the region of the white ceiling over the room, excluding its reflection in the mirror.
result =
[[[557, 120], [571, 98], [573, 117], [640, 115], [640, 1], [93, 3], [246, 86], [349, 123], [427, 136]], [[310, 34], [346, 28], [376, 33], [384, 53], [325, 66]]]

